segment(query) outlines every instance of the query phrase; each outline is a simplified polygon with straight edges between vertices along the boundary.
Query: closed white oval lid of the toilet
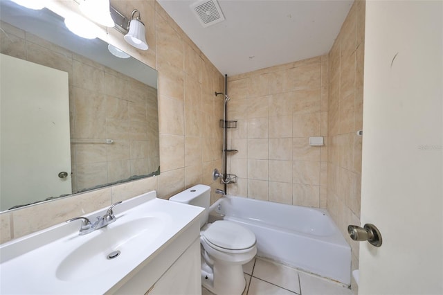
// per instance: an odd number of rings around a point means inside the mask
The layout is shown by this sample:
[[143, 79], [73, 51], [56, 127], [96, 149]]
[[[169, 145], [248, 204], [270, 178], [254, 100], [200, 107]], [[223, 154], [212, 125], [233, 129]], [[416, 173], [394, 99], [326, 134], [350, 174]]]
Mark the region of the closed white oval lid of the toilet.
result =
[[208, 242], [224, 249], [242, 250], [251, 248], [255, 244], [255, 235], [252, 231], [227, 220], [213, 222], [203, 235]]

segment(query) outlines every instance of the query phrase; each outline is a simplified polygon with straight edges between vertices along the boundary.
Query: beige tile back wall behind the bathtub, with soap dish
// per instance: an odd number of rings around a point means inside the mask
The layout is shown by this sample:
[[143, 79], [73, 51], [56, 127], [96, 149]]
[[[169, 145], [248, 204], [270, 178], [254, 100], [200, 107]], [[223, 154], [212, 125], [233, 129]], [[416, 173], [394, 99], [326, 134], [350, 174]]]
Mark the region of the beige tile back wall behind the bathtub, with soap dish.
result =
[[325, 208], [328, 71], [323, 55], [228, 78], [228, 193]]

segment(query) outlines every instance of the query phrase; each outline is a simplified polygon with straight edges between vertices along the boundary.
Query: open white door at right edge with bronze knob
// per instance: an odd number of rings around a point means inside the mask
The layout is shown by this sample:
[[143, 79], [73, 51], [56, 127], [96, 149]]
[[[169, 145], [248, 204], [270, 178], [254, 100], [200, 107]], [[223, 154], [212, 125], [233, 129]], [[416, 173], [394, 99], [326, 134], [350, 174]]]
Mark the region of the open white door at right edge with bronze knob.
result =
[[359, 294], [443, 294], [443, 1], [366, 2]]

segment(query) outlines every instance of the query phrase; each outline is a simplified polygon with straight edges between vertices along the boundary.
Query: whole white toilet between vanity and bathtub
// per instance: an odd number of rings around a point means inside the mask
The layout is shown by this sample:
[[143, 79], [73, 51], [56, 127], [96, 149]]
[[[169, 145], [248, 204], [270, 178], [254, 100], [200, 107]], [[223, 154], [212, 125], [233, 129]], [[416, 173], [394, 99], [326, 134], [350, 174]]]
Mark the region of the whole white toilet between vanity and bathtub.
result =
[[206, 208], [200, 220], [201, 285], [217, 295], [242, 294], [246, 286], [242, 265], [257, 253], [254, 233], [227, 220], [207, 223], [210, 186], [192, 186], [170, 201]]

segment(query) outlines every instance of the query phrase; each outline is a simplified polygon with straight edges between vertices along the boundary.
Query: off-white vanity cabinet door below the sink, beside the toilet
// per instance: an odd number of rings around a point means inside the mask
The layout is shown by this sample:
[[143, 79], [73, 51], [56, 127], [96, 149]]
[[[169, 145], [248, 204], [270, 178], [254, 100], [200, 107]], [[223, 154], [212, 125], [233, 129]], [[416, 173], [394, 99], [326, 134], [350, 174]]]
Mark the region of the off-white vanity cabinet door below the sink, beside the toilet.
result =
[[201, 294], [199, 239], [190, 245], [146, 294]]

